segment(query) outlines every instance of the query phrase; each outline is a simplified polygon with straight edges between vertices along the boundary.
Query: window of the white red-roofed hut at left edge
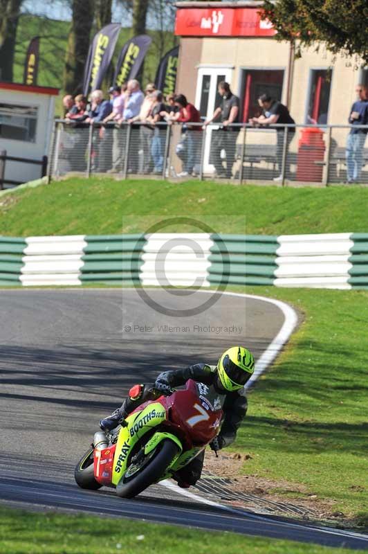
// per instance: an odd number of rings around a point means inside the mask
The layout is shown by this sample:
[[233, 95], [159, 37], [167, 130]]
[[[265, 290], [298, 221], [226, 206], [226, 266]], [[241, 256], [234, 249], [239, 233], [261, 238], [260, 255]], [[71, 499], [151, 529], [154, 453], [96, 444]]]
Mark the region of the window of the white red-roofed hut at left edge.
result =
[[37, 107], [0, 103], [0, 138], [35, 143]]

